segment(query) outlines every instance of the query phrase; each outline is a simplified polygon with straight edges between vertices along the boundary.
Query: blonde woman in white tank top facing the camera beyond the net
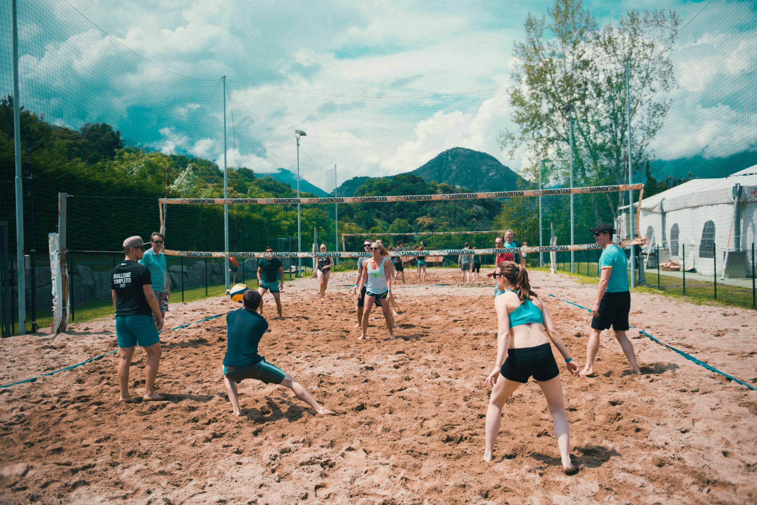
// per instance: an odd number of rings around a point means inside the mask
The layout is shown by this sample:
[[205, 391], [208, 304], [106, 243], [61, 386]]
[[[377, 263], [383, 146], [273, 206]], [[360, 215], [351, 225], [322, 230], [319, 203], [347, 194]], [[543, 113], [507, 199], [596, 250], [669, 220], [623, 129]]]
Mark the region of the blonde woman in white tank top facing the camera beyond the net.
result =
[[384, 246], [377, 242], [371, 244], [371, 253], [371, 258], [363, 263], [363, 276], [360, 277], [360, 286], [357, 288], [357, 293], [360, 293], [363, 286], [366, 287], [363, 306], [363, 334], [358, 340], [366, 338], [371, 309], [377, 303], [377, 300], [382, 311], [384, 311], [389, 337], [394, 339], [394, 321], [391, 318], [391, 309], [389, 308], [391, 301], [391, 259], [388, 258], [389, 253]]

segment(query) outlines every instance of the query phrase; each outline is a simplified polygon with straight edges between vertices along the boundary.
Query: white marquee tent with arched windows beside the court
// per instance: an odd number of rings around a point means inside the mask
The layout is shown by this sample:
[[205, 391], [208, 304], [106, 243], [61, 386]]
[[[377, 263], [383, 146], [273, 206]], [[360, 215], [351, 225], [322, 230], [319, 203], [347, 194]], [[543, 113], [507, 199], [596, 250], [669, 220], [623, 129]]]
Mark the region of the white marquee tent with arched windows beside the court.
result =
[[641, 234], [660, 259], [686, 270], [726, 277], [750, 277], [752, 247], [757, 235], [757, 165], [724, 178], [694, 179], [644, 198]]

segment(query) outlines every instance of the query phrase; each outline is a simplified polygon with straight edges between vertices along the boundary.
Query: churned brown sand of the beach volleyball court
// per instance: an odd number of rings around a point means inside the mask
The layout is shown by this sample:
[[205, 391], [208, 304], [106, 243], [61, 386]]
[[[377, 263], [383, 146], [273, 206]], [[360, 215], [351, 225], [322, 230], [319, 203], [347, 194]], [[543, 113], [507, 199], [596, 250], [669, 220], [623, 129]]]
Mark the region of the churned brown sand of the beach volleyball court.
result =
[[[429, 271], [430, 283], [458, 278]], [[540, 272], [532, 280], [582, 366], [590, 315], [546, 295], [590, 305], [596, 286]], [[397, 287], [401, 338], [388, 341], [374, 311], [372, 338], [358, 342], [351, 290], [332, 284], [322, 303], [313, 278], [287, 283], [285, 319], [269, 321], [261, 354], [339, 417], [316, 418], [288, 389], [251, 381], [240, 386], [243, 415], [233, 417], [220, 375], [223, 318], [161, 335], [156, 391], [166, 402], [117, 403], [116, 355], [0, 389], [0, 501], [755, 503], [757, 392], [633, 331], [643, 376], [630, 375], [609, 334], [597, 377], [570, 379], [560, 365], [577, 475], [561, 471], [535, 383], [506, 405], [494, 462], [484, 463], [483, 382], [497, 344], [492, 290]], [[226, 298], [171, 305], [167, 325], [229, 308]], [[634, 294], [631, 322], [757, 383], [754, 311]], [[112, 318], [5, 339], [0, 383], [115, 345]], [[141, 395], [145, 353], [134, 360], [132, 395]]]

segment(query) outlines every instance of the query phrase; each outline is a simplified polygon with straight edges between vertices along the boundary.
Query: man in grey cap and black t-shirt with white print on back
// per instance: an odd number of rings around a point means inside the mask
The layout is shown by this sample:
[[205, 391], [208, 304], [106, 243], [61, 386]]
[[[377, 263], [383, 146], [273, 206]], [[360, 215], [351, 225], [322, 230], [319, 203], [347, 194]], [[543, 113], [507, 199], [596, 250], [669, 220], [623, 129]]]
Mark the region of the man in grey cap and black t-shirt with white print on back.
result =
[[118, 383], [121, 390], [119, 401], [136, 403], [129, 395], [129, 365], [137, 344], [142, 345], [147, 352], [145, 395], [142, 396], [142, 400], [163, 400], [162, 396], [154, 392], [157, 365], [160, 362], [160, 339], [157, 331], [163, 328], [163, 317], [160, 315], [157, 299], [152, 293], [150, 269], [137, 263], [145, 256], [142, 237], [134, 236], [124, 240], [123, 255], [123, 262], [117, 265], [111, 274], [111, 293], [116, 309], [116, 337], [121, 351], [118, 362]]

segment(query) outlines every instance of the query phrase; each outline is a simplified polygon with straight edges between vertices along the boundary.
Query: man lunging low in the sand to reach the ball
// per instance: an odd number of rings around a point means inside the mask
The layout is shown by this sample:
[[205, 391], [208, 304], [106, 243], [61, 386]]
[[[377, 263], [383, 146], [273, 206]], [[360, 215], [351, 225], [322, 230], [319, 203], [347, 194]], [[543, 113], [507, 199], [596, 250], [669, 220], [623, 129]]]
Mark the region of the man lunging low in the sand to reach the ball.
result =
[[260, 293], [245, 291], [242, 297], [244, 308], [226, 315], [226, 356], [223, 358], [223, 384], [229, 394], [235, 416], [241, 416], [236, 385], [245, 379], [260, 380], [264, 384], [281, 384], [291, 389], [298, 398], [316, 409], [319, 416], [336, 414], [322, 407], [296, 380], [266, 358], [257, 353], [257, 345], [268, 323], [257, 313], [260, 307]]

